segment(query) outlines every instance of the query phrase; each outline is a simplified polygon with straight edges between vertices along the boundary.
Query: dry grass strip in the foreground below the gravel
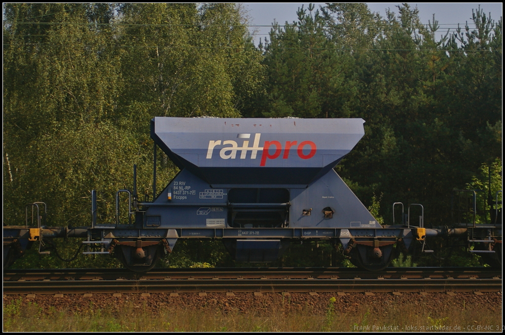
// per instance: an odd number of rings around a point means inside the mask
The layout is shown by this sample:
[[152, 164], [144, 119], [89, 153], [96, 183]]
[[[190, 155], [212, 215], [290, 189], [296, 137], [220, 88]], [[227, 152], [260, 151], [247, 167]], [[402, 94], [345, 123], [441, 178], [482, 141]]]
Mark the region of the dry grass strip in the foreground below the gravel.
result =
[[[349, 303], [351, 300], [349, 301]], [[4, 331], [454, 331], [500, 330], [501, 310], [475, 310], [446, 306], [443, 315], [420, 310], [416, 304], [390, 304], [381, 311], [363, 305], [356, 312], [335, 310], [335, 298], [327, 302], [325, 313], [310, 308], [287, 310], [274, 306], [270, 311], [223, 311], [219, 308], [148, 308], [125, 303], [115, 311], [100, 309], [89, 302], [79, 310], [41, 307], [22, 298], [4, 304]], [[450, 329], [447, 327], [451, 327]], [[472, 328], [473, 326], [473, 328]], [[481, 328], [478, 328], [480, 326]], [[487, 326], [488, 328], [483, 328]], [[493, 328], [489, 328], [493, 326]], [[446, 328], [441, 328], [446, 327]]]

